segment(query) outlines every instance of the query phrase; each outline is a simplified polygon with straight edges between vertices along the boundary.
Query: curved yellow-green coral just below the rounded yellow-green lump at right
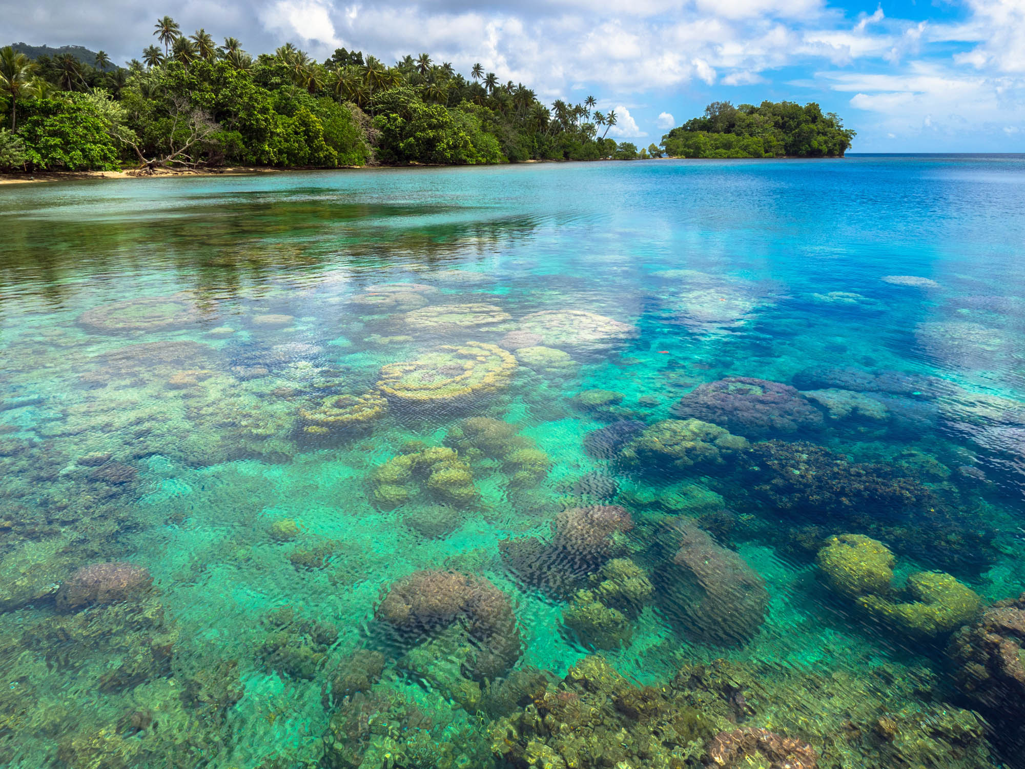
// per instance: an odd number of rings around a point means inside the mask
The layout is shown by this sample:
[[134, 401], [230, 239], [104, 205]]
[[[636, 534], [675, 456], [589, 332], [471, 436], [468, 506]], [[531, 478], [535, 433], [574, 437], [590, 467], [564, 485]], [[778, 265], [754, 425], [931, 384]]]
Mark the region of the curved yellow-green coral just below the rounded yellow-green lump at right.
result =
[[935, 638], [975, 619], [982, 599], [971, 588], [942, 571], [919, 571], [907, 578], [906, 603], [894, 603], [879, 596], [865, 596], [859, 603], [911, 637]]

